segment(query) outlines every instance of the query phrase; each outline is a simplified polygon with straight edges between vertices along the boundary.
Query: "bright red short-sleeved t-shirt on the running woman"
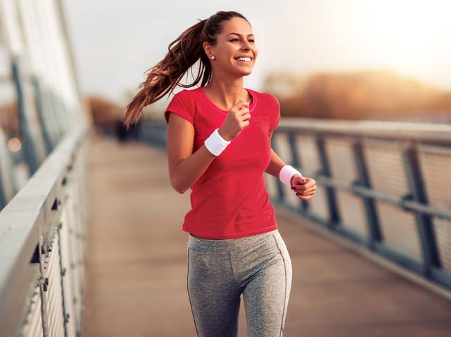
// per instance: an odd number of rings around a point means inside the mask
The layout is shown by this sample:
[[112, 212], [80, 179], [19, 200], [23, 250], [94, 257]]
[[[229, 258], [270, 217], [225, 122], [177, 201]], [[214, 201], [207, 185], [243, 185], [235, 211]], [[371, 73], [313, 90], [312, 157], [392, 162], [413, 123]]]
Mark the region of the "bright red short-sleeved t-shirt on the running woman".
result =
[[[233, 239], [278, 228], [264, 171], [271, 159], [268, 133], [280, 121], [280, 105], [270, 93], [246, 90], [253, 97], [249, 106], [250, 124], [213, 159], [191, 187], [192, 209], [185, 215], [182, 230], [195, 236]], [[194, 125], [193, 152], [214, 129], [221, 127], [228, 113], [216, 107], [202, 87], [176, 93], [164, 111], [166, 122], [169, 112]]]

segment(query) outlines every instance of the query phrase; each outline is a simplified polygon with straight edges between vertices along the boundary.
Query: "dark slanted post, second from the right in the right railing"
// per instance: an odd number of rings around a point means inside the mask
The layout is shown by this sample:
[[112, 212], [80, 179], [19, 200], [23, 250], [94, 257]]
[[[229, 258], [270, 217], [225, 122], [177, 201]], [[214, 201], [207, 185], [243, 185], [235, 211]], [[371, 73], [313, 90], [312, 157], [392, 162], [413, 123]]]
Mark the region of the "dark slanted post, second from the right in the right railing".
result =
[[[358, 176], [359, 185], [371, 189], [371, 183], [368, 176], [364, 152], [359, 138], [352, 138], [352, 152], [355, 158], [355, 167]], [[368, 248], [375, 251], [376, 243], [382, 240], [382, 235], [379, 226], [379, 219], [377, 219], [377, 212], [373, 198], [363, 196], [364, 207], [366, 212], [366, 224], [368, 226]]]

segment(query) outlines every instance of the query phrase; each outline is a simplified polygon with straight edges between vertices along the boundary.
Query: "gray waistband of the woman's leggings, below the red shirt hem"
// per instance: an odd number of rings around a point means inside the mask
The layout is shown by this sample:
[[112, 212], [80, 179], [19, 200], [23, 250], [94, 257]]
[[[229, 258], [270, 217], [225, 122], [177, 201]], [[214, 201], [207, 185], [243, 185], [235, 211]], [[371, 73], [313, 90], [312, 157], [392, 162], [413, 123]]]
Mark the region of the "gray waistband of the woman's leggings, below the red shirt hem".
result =
[[273, 234], [278, 234], [278, 229], [270, 230], [266, 233], [261, 233], [257, 235], [250, 235], [249, 237], [237, 237], [235, 239], [201, 239], [200, 237], [195, 237], [191, 233], [189, 234], [188, 247], [193, 248], [196, 251], [205, 252], [225, 252], [239, 250], [243, 247], [248, 247], [250, 245], [261, 242], [266, 237], [271, 237]]

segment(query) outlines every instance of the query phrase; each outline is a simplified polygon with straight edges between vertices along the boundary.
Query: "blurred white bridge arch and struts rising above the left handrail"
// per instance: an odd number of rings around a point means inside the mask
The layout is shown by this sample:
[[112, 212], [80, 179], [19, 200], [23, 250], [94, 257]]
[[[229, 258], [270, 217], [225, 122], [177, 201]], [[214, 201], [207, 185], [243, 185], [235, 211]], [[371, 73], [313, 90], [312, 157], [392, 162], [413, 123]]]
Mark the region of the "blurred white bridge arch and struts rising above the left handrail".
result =
[[[81, 106], [61, 0], [0, 0], [0, 54], [0, 115], [17, 120], [0, 130], [1, 210], [73, 125], [90, 116]], [[11, 151], [10, 138], [19, 140]]]

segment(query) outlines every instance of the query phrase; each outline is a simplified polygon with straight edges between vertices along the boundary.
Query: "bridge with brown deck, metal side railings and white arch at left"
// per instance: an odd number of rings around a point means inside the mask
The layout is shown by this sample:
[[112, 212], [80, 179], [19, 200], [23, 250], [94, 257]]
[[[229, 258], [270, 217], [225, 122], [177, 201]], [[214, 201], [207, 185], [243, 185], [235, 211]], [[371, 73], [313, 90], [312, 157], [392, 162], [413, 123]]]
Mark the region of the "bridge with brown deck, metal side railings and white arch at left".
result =
[[[165, 122], [96, 133], [60, 2], [1, 6], [20, 131], [0, 129], [1, 336], [196, 336]], [[282, 118], [271, 146], [318, 184], [300, 201], [265, 173], [293, 263], [284, 335], [450, 336], [451, 125]]]

